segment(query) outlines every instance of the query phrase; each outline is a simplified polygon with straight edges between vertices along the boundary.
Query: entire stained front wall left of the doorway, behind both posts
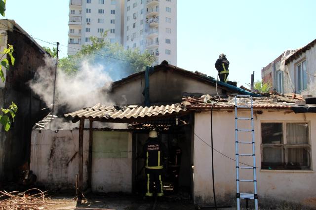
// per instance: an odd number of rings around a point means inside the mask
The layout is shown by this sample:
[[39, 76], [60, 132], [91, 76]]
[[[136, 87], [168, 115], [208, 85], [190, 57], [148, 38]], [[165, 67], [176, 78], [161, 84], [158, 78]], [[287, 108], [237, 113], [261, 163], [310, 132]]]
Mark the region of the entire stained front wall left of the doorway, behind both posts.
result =
[[[33, 130], [30, 170], [47, 188], [74, 189], [78, 174], [79, 130]], [[130, 132], [93, 131], [93, 192], [131, 192]], [[83, 187], [87, 186], [89, 131], [83, 133]]]

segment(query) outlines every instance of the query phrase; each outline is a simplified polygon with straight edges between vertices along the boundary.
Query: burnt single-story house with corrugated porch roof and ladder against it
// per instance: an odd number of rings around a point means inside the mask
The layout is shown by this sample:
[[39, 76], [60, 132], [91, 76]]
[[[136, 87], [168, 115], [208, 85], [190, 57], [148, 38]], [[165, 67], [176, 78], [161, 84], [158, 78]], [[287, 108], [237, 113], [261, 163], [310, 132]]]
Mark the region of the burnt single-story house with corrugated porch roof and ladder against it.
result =
[[[297, 99], [259, 97], [212, 77], [161, 63], [114, 82], [112, 99], [124, 105], [95, 105], [67, 113], [79, 130], [32, 134], [31, 169], [47, 186], [74, 186], [93, 192], [141, 192], [143, 161], [139, 158], [148, 132], [156, 128], [168, 147], [177, 138], [182, 148], [179, 184], [197, 205], [212, 205], [211, 133], [214, 148], [215, 195], [220, 204], [235, 204], [235, 102], [227, 96], [253, 97], [258, 197], [260, 201], [315, 204], [315, 105], [296, 106]], [[146, 74], [149, 77], [146, 78]], [[217, 86], [217, 91], [216, 91]], [[149, 88], [151, 105], [143, 90]], [[221, 95], [217, 97], [205, 94]], [[124, 96], [123, 96], [124, 95]], [[146, 94], [145, 94], [146, 95]], [[148, 95], [147, 95], [148, 97]], [[248, 105], [249, 98], [238, 104]], [[240, 115], [239, 115], [240, 114]], [[249, 109], [238, 111], [249, 116]], [[212, 118], [212, 129], [211, 129]], [[127, 123], [124, 129], [96, 129], [100, 123]], [[249, 122], [239, 125], [249, 128]], [[243, 140], [251, 140], [241, 135]], [[250, 153], [250, 148], [241, 150]], [[252, 164], [247, 160], [240, 163]], [[250, 179], [252, 173], [243, 174]], [[241, 186], [252, 192], [253, 185]]]

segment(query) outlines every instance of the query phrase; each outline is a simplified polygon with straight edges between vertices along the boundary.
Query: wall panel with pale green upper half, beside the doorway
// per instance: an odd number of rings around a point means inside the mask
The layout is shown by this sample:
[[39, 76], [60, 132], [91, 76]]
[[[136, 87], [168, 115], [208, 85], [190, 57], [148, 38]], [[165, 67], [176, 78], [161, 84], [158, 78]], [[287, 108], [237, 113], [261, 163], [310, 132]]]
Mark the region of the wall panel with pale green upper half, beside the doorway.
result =
[[93, 192], [132, 191], [132, 133], [93, 132]]

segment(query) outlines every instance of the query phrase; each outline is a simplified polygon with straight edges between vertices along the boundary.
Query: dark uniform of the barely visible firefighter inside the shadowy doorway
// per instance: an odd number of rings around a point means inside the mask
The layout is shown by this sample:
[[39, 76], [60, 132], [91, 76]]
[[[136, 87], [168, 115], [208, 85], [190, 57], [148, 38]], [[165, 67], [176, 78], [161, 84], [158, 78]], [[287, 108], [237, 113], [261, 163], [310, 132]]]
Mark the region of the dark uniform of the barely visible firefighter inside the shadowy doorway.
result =
[[170, 149], [169, 155], [169, 174], [171, 175], [173, 182], [173, 190], [175, 193], [178, 192], [179, 189], [179, 172], [181, 165], [181, 155], [182, 150], [179, 146], [173, 145]]

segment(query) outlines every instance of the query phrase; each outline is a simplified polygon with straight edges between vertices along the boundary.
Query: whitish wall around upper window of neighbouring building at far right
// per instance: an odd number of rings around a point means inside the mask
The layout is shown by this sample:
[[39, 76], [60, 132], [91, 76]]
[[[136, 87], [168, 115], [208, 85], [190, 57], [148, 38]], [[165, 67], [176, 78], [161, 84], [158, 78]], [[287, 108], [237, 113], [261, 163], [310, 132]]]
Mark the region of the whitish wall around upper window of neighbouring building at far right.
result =
[[298, 93], [296, 91], [296, 65], [302, 60], [307, 62], [307, 89], [302, 91], [301, 95], [316, 96], [316, 45], [311, 47], [301, 56], [286, 65], [288, 74], [284, 74], [284, 91], [285, 93]]

